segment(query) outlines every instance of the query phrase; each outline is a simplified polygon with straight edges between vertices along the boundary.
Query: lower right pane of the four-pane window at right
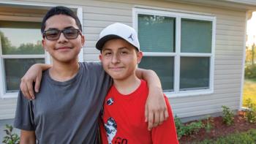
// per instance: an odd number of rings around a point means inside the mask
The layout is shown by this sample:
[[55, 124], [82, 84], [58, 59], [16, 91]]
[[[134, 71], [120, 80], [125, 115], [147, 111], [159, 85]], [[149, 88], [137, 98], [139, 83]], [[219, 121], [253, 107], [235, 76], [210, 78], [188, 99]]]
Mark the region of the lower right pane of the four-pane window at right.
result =
[[181, 57], [180, 90], [209, 88], [210, 58]]

